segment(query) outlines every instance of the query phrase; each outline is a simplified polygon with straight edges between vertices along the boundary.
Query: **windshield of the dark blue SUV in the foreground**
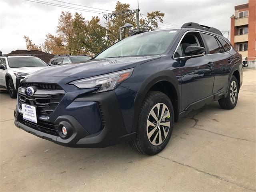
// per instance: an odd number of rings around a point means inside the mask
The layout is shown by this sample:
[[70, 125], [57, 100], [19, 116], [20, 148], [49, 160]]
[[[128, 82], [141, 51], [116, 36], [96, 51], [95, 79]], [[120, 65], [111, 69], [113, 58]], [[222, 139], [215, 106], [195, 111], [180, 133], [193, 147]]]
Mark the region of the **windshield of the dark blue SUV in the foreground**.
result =
[[96, 59], [163, 54], [177, 33], [178, 30], [164, 30], [130, 36], [100, 53]]

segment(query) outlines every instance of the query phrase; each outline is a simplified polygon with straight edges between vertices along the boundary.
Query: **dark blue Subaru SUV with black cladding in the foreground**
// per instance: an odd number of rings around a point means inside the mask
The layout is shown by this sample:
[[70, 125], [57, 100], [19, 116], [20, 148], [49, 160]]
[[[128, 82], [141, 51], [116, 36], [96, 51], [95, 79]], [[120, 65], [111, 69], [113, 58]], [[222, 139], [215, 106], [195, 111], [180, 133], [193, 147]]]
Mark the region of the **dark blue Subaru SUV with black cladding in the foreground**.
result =
[[15, 125], [68, 147], [130, 142], [153, 155], [173, 124], [218, 100], [236, 106], [242, 58], [216, 28], [136, 34], [91, 60], [30, 74], [18, 89]]

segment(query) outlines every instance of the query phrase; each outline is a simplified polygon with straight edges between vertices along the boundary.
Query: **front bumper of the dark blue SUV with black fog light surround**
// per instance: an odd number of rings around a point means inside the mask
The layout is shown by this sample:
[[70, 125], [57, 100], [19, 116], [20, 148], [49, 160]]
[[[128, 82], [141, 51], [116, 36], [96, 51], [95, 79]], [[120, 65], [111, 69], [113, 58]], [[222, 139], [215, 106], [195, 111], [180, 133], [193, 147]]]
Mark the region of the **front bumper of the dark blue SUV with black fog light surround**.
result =
[[[101, 119], [97, 114], [97, 110], [93, 107], [95, 104], [99, 104], [100, 110], [98, 112], [104, 115], [103, 118], [101, 116]], [[56, 134], [49, 130], [44, 130], [39, 123], [33, 124], [24, 120], [18, 107], [14, 111], [14, 124], [26, 132], [67, 147], [102, 148], [132, 140], [135, 136], [135, 133], [127, 133], [126, 131], [114, 90], [80, 96], [74, 99], [65, 109], [63, 106], [61, 109], [62, 112], [57, 107], [52, 115], [56, 116], [54, 122], [51, 122], [55, 126]], [[95, 125], [93, 121], [97, 121], [95, 122], [96, 124], [100, 121], [102, 124], [100, 131], [92, 132], [93, 127], [90, 126]], [[66, 138], [61, 132], [63, 125], [71, 133]], [[54, 130], [54, 128], [52, 129]]]

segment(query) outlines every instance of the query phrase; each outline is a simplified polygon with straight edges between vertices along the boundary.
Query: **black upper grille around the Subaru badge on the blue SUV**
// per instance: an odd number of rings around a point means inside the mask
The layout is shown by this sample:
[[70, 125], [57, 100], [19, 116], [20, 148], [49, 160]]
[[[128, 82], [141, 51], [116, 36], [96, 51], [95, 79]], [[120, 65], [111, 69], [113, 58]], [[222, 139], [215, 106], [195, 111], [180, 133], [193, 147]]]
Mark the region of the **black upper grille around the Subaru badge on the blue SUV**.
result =
[[[26, 96], [19, 93], [19, 107], [22, 110], [22, 104], [36, 106], [38, 117], [49, 118], [65, 95], [64, 90], [61, 91], [43, 91], [44, 94], [35, 94], [34, 96]], [[37, 92], [36, 92], [37, 93]]]

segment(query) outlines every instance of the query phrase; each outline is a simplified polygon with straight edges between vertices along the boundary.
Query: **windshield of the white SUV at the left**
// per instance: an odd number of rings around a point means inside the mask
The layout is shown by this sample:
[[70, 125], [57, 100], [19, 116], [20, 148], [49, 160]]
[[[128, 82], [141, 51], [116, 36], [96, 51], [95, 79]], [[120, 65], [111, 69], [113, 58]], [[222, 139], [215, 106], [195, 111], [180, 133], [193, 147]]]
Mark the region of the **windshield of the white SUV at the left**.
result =
[[45, 62], [37, 57], [13, 57], [8, 58], [10, 67], [46, 67]]

